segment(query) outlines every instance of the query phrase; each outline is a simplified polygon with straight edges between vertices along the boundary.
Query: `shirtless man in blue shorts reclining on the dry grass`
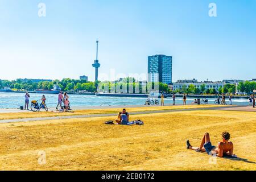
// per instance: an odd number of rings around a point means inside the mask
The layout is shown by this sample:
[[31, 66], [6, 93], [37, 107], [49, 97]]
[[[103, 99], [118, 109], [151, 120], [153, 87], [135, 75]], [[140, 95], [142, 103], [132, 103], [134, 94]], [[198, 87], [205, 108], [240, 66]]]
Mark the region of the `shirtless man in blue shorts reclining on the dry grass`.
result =
[[218, 143], [218, 147], [212, 146], [210, 142], [209, 133], [205, 133], [201, 141], [200, 147], [193, 147], [187, 140], [187, 149], [195, 150], [197, 152], [207, 152], [208, 155], [217, 154], [218, 157], [222, 158], [224, 155], [233, 156], [234, 146], [232, 142], [229, 142], [230, 134], [228, 132], [222, 133], [222, 142]]

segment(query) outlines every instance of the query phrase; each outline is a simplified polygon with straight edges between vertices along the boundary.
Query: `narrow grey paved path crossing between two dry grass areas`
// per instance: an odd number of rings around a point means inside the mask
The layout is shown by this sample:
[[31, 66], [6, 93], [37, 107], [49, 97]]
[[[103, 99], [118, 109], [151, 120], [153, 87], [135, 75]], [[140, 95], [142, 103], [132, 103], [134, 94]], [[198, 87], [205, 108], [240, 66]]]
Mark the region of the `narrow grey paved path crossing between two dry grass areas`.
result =
[[[180, 111], [196, 111], [196, 110], [235, 110], [244, 111], [244, 107], [241, 106], [227, 106], [227, 107], [208, 107], [208, 108], [196, 108], [196, 109], [172, 109], [172, 110], [155, 110], [155, 111], [138, 111], [130, 112], [131, 115], [138, 114], [154, 114], [154, 113], [170, 113]], [[255, 108], [256, 111], [256, 108]], [[76, 119], [76, 118], [93, 118], [93, 117], [115, 117], [117, 114], [86, 114], [86, 115], [65, 115], [58, 117], [40, 117], [40, 118], [23, 118], [23, 119], [4, 119], [0, 123], [12, 123], [12, 122], [30, 122], [30, 121], [47, 121], [55, 119]]]

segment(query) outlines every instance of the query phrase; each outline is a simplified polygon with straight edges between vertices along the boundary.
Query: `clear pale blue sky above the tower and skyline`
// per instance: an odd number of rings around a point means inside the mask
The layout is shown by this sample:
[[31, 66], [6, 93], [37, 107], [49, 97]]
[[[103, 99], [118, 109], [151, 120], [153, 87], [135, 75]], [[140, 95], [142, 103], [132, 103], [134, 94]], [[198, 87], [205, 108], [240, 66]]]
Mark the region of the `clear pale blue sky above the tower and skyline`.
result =
[[0, 0], [0, 79], [93, 81], [97, 39], [100, 73], [147, 73], [159, 53], [173, 81], [256, 78], [255, 0]]

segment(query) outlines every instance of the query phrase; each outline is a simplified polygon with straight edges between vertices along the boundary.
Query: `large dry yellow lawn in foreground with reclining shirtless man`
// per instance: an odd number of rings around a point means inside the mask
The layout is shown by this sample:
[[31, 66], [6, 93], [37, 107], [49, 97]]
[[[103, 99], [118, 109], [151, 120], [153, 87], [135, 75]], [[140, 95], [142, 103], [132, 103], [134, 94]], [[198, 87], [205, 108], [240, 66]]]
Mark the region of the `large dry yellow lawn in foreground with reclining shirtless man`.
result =
[[[83, 118], [0, 125], [2, 170], [255, 170], [256, 115], [237, 111], [181, 111], [133, 115], [144, 126], [104, 125], [114, 119]], [[213, 144], [232, 135], [241, 160], [185, 149], [208, 131]], [[46, 164], [38, 164], [38, 152]]]

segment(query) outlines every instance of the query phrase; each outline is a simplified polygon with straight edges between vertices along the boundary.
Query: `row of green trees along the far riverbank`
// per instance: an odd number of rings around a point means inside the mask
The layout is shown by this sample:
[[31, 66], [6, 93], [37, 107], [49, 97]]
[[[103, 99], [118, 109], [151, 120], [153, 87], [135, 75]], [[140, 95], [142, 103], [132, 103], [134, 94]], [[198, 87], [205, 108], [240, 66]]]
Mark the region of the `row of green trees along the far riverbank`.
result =
[[[51, 90], [53, 89], [53, 85], [59, 85], [61, 90], [63, 91], [71, 91], [75, 90], [78, 91], [87, 91], [87, 92], [97, 92], [97, 86], [101, 84], [102, 90], [107, 90], [110, 92], [110, 90], [113, 91], [113, 88], [117, 88], [117, 93], [119, 90], [126, 90], [127, 93], [143, 93], [144, 90], [142, 90], [142, 82], [135, 82], [135, 78], [127, 77], [124, 78], [122, 81], [119, 82], [88, 82], [86, 80], [74, 80], [70, 78], [65, 78], [63, 80], [53, 80], [53, 81], [41, 81], [41, 82], [32, 82], [32, 80], [23, 81], [21, 79], [17, 79], [15, 81], [9, 81], [9, 80], [0, 80], [0, 88], [9, 87], [11, 89], [17, 89], [17, 90], [28, 90], [33, 91], [36, 89], [44, 89], [44, 90]], [[147, 84], [147, 90], [148, 87], [154, 88], [154, 83], [148, 83]], [[226, 84], [223, 87], [220, 88], [209, 88], [207, 89], [205, 84], [200, 85], [199, 88], [197, 88], [195, 85], [189, 85], [183, 86], [181, 89], [177, 89], [175, 91], [172, 91], [169, 89], [167, 84], [163, 84], [159, 82], [157, 84], [159, 86], [160, 92], [165, 93], [186, 93], [186, 94], [217, 94], [217, 93], [229, 93], [229, 94], [235, 94], [236, 93], [236, 85], [234, 84]], [[106, 89], [108, 87], [108, 89]], [[125, 88], [125, 89], [123, 89]], [[133, 90], [131, 90], [133, 88]], [[237, 86], [237, 89], [240, 90], [241, 93], [247, 93], [251, 94], [254, 89], [256, 89], [256, 82], [255, 81], [245, 81], [240, 82]]]

